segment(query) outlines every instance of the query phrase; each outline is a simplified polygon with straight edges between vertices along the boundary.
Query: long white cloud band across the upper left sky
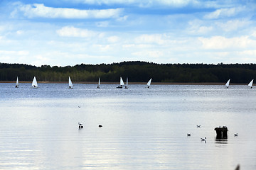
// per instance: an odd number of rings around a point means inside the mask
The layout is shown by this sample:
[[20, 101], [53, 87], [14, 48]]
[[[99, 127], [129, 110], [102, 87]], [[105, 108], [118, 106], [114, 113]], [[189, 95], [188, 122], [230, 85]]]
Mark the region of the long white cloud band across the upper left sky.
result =
[[[80, 10], [75, 8], [53, 8], [44, 6], [44, 4], [21, 4], [18, 10], [28, 18], [118, 18], [123, 9], [95, 9]], [[16, 13], [16, 11], [14, 12]]]

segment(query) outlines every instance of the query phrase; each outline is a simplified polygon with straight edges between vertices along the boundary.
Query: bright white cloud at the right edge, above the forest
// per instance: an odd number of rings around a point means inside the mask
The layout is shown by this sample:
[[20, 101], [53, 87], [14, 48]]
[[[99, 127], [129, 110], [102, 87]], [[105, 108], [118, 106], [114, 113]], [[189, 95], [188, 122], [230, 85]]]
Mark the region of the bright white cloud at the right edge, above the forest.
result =
[[214, 36], [212, 38], [198, 38], [205, 49], [242, 49], [255, 47], [256, 40], [251, 40], [247, 36], [239, 38], [225, 38], [222, 36]]

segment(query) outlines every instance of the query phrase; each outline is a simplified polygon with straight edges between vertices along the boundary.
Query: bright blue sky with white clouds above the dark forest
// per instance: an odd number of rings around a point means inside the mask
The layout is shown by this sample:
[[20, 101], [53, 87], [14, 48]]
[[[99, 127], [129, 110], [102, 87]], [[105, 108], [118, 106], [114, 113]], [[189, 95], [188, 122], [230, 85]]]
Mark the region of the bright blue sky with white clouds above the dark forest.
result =
[[0, 0], [0, 62], [256, 63], [255, 0]]

